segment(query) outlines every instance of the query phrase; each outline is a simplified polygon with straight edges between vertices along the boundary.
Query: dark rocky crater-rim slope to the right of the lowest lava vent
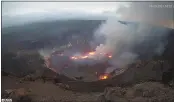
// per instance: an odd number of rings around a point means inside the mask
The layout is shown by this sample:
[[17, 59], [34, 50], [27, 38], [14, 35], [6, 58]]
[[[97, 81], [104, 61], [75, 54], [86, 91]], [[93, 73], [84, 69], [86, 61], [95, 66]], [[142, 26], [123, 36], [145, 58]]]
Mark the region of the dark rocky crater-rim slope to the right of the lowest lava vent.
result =
[[168, 61], [150, 60], [132, 64], [125, 72], [115, 76], [114, 84], [129, 85], [142, 81], [162, 81], [165, 72], [171, 69]]

